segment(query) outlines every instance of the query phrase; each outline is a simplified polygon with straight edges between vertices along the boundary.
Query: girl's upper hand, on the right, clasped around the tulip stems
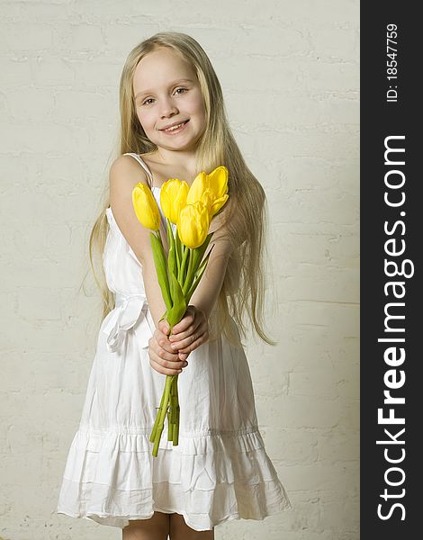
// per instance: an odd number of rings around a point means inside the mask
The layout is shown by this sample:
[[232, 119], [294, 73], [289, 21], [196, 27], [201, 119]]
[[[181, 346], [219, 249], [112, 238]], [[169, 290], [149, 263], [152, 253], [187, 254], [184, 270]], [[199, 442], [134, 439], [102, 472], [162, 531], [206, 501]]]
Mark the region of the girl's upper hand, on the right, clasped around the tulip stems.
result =
[[179, 358], [185, 360], [193, 350], [200, 347], [208, 339], [209, 323], [204, 311], [189, 305], [185, 311], [184, 319], [175, 324], [172, 329], [172, 336], [169, 338], [170, 350], [177, 351]]

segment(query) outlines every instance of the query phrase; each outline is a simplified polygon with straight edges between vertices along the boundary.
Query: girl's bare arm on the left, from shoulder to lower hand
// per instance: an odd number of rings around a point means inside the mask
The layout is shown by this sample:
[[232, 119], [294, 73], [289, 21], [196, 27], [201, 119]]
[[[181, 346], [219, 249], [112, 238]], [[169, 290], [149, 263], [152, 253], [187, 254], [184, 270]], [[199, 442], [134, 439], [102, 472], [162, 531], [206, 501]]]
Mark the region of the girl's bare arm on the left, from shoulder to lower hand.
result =
[[[177, 353], [170, 347], [166, 334], [157, 329], [158, 320], [166, 311], [157, 280], [153, 252], [149, 238], [150, 231], [143, 227], [135, 215], [132, 205], [132, 190], [139, 182], [147, 184], [147, 175], [130, 156], [118, 157], [111, 166], [110, 205], [116, 223], [132, 251], [142, 265], [142, 279], [147, 302], [156, 329], [150, 339], [148, 354], [150, 365], [161, 374], [173, 375], [184, 367]], [[160, 344], [160, 345], [159, 345]]]

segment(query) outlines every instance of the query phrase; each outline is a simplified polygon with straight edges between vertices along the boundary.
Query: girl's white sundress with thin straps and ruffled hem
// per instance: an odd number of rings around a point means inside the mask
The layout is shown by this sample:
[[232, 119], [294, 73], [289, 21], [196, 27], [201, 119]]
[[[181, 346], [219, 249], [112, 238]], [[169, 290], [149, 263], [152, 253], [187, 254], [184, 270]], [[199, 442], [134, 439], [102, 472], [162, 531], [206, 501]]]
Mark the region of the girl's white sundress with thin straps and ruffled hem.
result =
[[[129, 155], [152, 185], [148, 166]], [[151, 189], [160, 208], [160, 188]], [[229, 519], [264, 519], [289, 509], [257, 427], [247, 357], [224, 335], [188, 357], [178, 377], [179, 444], [167, 441], [166, 421], [158, 455], [152, 456], [149, 436], [166, 375], [149, 364], [155, 325], [142, 266], [110, 207], [106, 214], [103, 267], [115, 308], [98, 335], [57, 513], [123, 528], [155, 511], [176, 512], [189, 527], [204, 531]]]

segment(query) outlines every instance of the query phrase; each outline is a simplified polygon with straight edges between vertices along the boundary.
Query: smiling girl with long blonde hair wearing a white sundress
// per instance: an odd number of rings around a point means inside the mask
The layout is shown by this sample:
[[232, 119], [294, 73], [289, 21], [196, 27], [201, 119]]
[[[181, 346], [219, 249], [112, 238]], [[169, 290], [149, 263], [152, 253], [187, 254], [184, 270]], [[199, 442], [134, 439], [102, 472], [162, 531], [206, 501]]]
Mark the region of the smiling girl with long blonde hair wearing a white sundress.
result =
[[[103, 254], [106, 317], [58, 513], [121, 527], [123, 540], [214, 538], [229, 519], [263, 519], [290, 506], [257, 428], [241, 343], [246, 313], [273, 343], [262, 321], [266, 197], [229, 130], [210, 60], [190, 36], [161, 32], [135, 47], [120, 103], [121, 155], [90, 238], [91, 260], [96, 245]], [[192, 184], [220, 165], [229, 170], [229, 201], [211, 221], [209, 265], [169, 338], [132, 189], [148, 184], [159, 204], [168, 178]], [[165, 223], [162, 216], [166, 246]], [[167, 374], [181, 374], [179, 445], [167, 441], [165, 424], [153, 457], [149, 435]]]

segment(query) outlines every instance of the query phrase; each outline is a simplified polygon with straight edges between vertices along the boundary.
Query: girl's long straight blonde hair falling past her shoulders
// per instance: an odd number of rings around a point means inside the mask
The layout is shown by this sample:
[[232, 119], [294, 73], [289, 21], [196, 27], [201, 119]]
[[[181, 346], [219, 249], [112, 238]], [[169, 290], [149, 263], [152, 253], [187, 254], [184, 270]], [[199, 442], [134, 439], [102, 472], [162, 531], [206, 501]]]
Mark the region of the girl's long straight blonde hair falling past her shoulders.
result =
[[[116, 157], [126, 152], [145, 154], [157, 149], [146, 137], [139, 122], [133, 98], [132, 78], [139, 60], [162, 47], [173, 49], [190, 62], [201, 85], [206, 129], [196, 151], [196, 174], [201, 171], [210, 173], [220, 165], [225, 165], [229, 170], [229, 201], [225, 205], [224, 214], [233, 249], [217, 302], [220, 313], [219, 329], [233, 344], [240, 346], [240, 339], [246, 338], [247, 315], [259, 338], [269, 345], [275, 345], [275, 341], [268, 338], [264, 330], [266, 194], [256, 176], [247, 167], [231, 133], [220, 82], [211, 61], [191, 36], [174, 31], [159, 32], [130, 51], [121, 73], [121, 133]], [[103, 256], [109, 227], [105, 215], [108, 206], [107, 200], [103, 211], [95, 220], [89, 240], [90, 264], [94, 280], [103, 296], [103, 317], [114, 307], [113, 294], [105, 283], [103, 266], [101, 275], [98, 276], [93, 261], [94, 251], [100, 256], [100, 260]], [[229, 317], [233, 318], [235, 328]]]

